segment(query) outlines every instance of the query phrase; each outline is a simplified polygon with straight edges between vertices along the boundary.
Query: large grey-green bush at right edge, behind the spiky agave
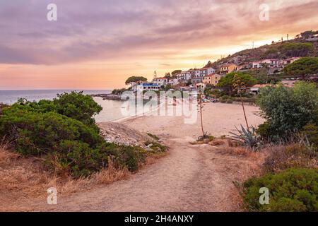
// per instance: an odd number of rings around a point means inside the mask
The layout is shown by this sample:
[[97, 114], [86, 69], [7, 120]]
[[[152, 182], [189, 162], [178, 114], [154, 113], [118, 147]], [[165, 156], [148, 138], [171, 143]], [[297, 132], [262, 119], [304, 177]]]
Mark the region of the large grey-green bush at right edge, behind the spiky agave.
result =
[[261, 90], [257, 104], [267, 119], [269, 140], [281, 141], [317, 120], [318, 89], [306, 82], [296, 83], [295, 88], [268, 87]]

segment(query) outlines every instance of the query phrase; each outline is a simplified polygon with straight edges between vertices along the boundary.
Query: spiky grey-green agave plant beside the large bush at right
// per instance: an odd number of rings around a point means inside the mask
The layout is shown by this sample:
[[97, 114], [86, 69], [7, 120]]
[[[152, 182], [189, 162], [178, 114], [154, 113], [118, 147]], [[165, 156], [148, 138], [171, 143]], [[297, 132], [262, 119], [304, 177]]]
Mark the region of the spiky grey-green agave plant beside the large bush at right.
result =
[[235, 129], [237, 133], [230, 132], [232, 134], [231, 140], [240, 142], [253, 150], [257, 150], [260, 147], [260, 136], [257, 134], [257, 129], [254, 126], [250, 130], [245, 129], [242, 125], [241, 129], [237, 129], [236, 126]]

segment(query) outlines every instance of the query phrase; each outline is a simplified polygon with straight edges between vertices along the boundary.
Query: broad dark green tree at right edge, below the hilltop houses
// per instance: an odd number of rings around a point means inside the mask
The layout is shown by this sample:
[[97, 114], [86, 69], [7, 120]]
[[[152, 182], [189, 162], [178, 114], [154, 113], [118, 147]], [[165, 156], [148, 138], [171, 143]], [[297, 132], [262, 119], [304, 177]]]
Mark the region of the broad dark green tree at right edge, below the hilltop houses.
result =
[[308, 76], [318, 73], [318, 57], [302, 57], [283, 69], [286, 76], [301, 76], [305, 80]]

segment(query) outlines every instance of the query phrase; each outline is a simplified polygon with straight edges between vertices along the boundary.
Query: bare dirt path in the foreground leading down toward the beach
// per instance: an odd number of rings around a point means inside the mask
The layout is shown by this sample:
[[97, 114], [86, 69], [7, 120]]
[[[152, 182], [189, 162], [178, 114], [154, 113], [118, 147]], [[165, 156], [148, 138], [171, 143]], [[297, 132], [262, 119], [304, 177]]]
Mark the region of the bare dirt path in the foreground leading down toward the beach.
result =
[[[59, 198], [57, 206], [42, 203], [42, 211], [227, 211], [239, 210], [224, 155], [207, 145], [168, 141], [170, 155], [142, 169], [129, 179]], [[213, 163], [214, 162], [214, 163]]]

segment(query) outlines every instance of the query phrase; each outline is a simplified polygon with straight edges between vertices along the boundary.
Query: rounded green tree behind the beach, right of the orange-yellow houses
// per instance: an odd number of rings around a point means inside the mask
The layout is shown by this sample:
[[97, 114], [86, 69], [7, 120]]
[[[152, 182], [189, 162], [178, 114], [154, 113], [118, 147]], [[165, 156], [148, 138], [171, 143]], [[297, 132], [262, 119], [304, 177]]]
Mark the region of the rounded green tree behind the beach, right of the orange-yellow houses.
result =
[[233, 94], [233, 79], [235, 75], [237, 75], [241, 79], [242, 83], [245, 83], [247, 87], [250, 87], [257, 83], [257, 79], [253, 78], [248, 73], [232, 72], [232, 73], [228, 73], [226, 76], [221, 78], [220, 81], [218, 82], [217, 87], [223, 88], [225, 93], [227, 93], [228, 95], [232, 95]]

